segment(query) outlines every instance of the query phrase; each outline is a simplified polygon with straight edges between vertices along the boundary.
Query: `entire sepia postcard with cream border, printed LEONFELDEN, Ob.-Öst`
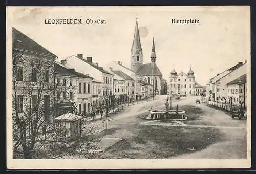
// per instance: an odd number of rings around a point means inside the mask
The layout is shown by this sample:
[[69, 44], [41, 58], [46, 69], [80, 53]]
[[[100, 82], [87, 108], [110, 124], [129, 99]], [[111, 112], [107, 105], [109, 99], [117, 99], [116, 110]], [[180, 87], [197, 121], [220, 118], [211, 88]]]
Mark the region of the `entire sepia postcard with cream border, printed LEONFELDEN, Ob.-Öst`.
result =
[[9, 169], [251, 166], [249, 6], [6, 15]]

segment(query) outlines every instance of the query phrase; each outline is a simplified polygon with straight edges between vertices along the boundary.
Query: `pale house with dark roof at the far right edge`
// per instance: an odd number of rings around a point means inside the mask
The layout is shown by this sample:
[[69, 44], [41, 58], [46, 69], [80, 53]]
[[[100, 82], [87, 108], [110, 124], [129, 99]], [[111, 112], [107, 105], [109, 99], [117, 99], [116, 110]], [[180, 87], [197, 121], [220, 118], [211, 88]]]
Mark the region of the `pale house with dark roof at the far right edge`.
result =
[[227, 83], [227, 96], [234, 105], [243, 102], [243, 106], [246, 107], [246, 92], [246, 74]]

